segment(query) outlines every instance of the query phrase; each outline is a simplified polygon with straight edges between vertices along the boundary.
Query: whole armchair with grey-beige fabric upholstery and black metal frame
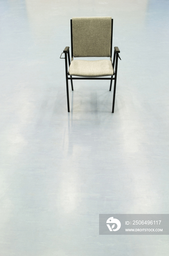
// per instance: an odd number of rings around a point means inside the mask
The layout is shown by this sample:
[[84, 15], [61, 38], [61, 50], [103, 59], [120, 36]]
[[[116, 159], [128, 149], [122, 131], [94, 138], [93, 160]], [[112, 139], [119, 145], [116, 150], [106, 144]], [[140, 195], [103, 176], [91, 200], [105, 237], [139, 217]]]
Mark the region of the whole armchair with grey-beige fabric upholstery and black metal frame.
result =
[[[112, 38], [113, 19], [111, 17], [76, 17], [71, 19], [71, 61], [69, 46], [66, 46], [62, 52], [64, 58], [61, 57], [62, 54], [60, 56], [60, 59], [65, 59], [68, 112], [70, 112], [68, 80], [71, 80], [73, 91], [73, 79], [104, 79], [110, 80], [110, 91], [114, 80], [112, 107], [112, 113], [114, 113], [117, 65], [118, 58], [121, 58], [119, 57], [119, 48], [114, 47], [112, 63]], [[110, 60], [74, 60], [76, 57], [110, 57]], [[111, 76], [111, 78], [103, 78], [103, 76]]]

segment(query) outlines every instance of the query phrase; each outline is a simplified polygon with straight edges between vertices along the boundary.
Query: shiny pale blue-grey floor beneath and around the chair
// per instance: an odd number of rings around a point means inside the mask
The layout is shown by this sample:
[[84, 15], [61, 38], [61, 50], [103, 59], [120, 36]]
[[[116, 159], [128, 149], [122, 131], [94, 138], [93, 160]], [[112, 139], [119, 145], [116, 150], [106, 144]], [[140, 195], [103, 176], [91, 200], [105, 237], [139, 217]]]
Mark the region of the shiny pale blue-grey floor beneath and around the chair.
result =
[[[169, 1], [0, 1], [0, 256], [168, 256], [169, 236], [99, 236], [99, 214], [169, 214]], [[74, 82], [73, 16], [112, 16], [107, 81]]]

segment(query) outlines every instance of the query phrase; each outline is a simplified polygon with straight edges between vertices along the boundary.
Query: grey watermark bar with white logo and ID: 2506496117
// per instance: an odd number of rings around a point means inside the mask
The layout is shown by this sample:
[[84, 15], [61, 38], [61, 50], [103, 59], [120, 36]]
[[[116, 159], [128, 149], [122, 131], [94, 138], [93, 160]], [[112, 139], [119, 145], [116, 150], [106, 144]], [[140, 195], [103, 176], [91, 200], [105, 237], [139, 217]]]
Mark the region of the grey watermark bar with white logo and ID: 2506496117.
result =
[[99, 214], [99, 235], [169, 235], [169, 214]]

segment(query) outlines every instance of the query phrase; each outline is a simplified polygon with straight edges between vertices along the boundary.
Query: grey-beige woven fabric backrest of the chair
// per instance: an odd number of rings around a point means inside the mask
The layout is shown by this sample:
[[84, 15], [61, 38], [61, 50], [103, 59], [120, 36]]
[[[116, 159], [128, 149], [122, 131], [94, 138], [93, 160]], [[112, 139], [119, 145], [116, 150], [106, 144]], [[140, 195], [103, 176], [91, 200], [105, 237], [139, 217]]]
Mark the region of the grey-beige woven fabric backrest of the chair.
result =
[[110, 57], [111, 17], [72, 18], [74, 57]]

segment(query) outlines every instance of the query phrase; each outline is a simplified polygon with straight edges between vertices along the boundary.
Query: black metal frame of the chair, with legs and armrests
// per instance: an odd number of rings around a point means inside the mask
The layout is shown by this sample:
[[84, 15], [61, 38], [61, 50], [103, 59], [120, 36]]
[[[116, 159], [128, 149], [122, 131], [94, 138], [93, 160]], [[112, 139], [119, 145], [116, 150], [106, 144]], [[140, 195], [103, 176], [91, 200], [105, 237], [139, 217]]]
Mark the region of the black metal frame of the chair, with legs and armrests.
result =
[[[71, 61], [73, 60], [73, 36], [72, 36], [72, 19], [70, 20], [70, 26], [71, 26]], [[110, 48], [110, 60], [112, 63], [112, 44], [113, 44], [113, 19], [111, 19], [111, 48]], [[64, 53], [64, 58], [61, 58], [62, 54]], [[114, 113], [114, 104], [115, 104], [115, 90], [116, 90], [116, 81], [117, 81], [117, 65], [118, 65], [118, 58], [121, 60], [120, 56], [119, 56], [119, 48], [116, 46], [114, 47], [114, 56], [113, 56], [113, 70], [114, 70], [114, 74], [111, 76], [111, 78], [84, 78], [84, 77], [78, 77], [78, 78], [72, 78], [72, 76], [70, 75], [70, 77], [68, 77], [68, 68], [67, 68], [67, 56], [68, 56], [68, 64], [70, 67], [70, 52], [69, 52], [69, 46], [66, 46], [62, 52], [62, 54], [60, 55], [60, 59], [65, 59], [65, 70], [66, 70], [66, 91], [67, 91], [67, 109], [68, 112], [70, 112], [70, 106], [69, 106], [69, 92], [68, 92], [68, 80], [71, 80], [71, 88], [73, 91], [73, 82], [72, 80], [80, 80], [80, 79], [84, 79], [84, 80], [111, 80], [110, 81], [110, 89], [109, 91], [111, 91], [111, 86], [112, 86], [112, 81], [114, 80], [114, 91], [113, 91], [113, 106], [112, 106], [112, 113]], [[114, 65], [115, 65], [115, 69], [114, 69]], [[114, 76], [114, 77], [113, 77]]]

